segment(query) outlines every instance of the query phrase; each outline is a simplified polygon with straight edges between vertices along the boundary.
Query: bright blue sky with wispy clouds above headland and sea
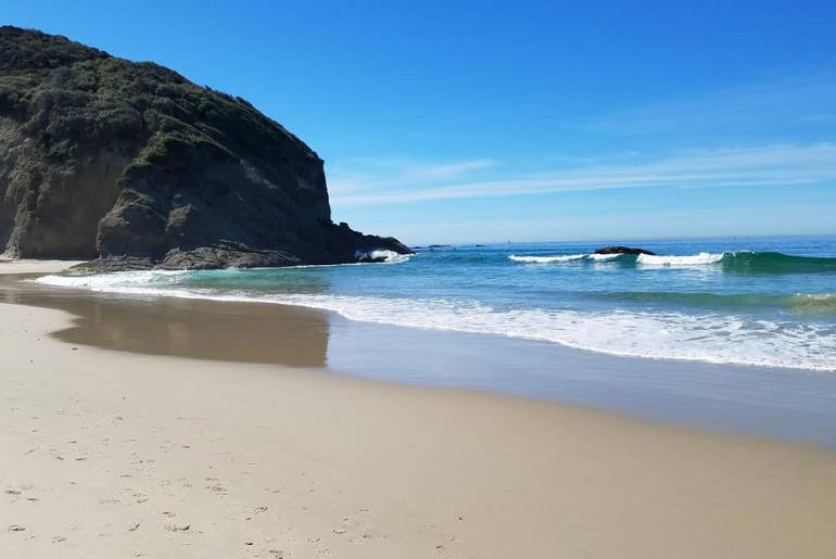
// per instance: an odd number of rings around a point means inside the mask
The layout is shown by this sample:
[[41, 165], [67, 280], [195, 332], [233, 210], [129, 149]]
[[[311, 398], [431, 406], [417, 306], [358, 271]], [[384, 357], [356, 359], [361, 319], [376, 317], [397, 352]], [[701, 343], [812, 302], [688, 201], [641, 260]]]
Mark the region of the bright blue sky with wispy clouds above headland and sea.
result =
[[836, 233], [836, 2], [0, 0], [240, 96], [410, 244]]

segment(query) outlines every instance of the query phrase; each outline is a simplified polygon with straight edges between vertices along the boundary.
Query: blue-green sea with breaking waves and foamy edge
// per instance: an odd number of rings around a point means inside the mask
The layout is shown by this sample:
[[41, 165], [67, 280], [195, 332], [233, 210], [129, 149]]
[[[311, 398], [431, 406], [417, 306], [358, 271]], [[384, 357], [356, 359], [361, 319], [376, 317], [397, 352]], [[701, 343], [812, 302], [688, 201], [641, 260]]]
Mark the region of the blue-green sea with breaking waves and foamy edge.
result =
[[[457, 245], [383, 264], [52, 276], [97, 291], [288, 303], [354, 320], [654, 359], [836, 371], [836, 238]], [[623, 244], [623, 243], [619, 243]]]

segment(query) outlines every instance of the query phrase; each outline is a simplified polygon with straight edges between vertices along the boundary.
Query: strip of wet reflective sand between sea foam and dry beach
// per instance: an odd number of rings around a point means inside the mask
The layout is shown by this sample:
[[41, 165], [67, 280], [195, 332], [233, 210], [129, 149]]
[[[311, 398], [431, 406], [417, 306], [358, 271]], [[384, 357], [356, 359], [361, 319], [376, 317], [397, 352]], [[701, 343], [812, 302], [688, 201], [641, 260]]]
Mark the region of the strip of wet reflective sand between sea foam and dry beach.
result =
[[0, 275], [7, 301], [71, 313], [76, 327], [52, 335], [75, 345], [326, 368], [836, 450], [836, 374], [821, 371], [612, 356], [550, 342], [364, 322], [302, 306], [93, 292], [18, 282], [24, 277], [35, 276], [18, 274], [10, 282], [12, 276], [3, 281]]

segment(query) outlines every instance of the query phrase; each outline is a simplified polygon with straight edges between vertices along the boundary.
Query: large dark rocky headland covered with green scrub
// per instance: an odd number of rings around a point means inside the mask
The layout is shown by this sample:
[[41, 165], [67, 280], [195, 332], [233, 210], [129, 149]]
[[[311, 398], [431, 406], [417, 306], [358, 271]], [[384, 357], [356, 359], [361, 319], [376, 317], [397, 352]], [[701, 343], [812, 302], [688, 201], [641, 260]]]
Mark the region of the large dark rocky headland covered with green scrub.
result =
[[0, 252], [93, 269], [356, 262], [322, 161], [251, 104], [153, 63], [0, 27]]

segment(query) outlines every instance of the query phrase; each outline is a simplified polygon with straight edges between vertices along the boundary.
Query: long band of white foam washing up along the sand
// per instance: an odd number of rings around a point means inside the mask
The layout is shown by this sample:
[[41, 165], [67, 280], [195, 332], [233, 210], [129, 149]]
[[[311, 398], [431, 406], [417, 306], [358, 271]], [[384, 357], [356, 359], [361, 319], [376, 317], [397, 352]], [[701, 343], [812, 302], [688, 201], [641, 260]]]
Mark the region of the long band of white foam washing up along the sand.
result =
[[246, 294], [178, 287], [177, 272], [39, 278], [41, 283], [137, 295], [259, 301], [332, 310], [353, 320], [541, 340], [599, 353], [836, 371], [836, 332], [823, 325], [682, 313], [494, 309], [442, 298]]

